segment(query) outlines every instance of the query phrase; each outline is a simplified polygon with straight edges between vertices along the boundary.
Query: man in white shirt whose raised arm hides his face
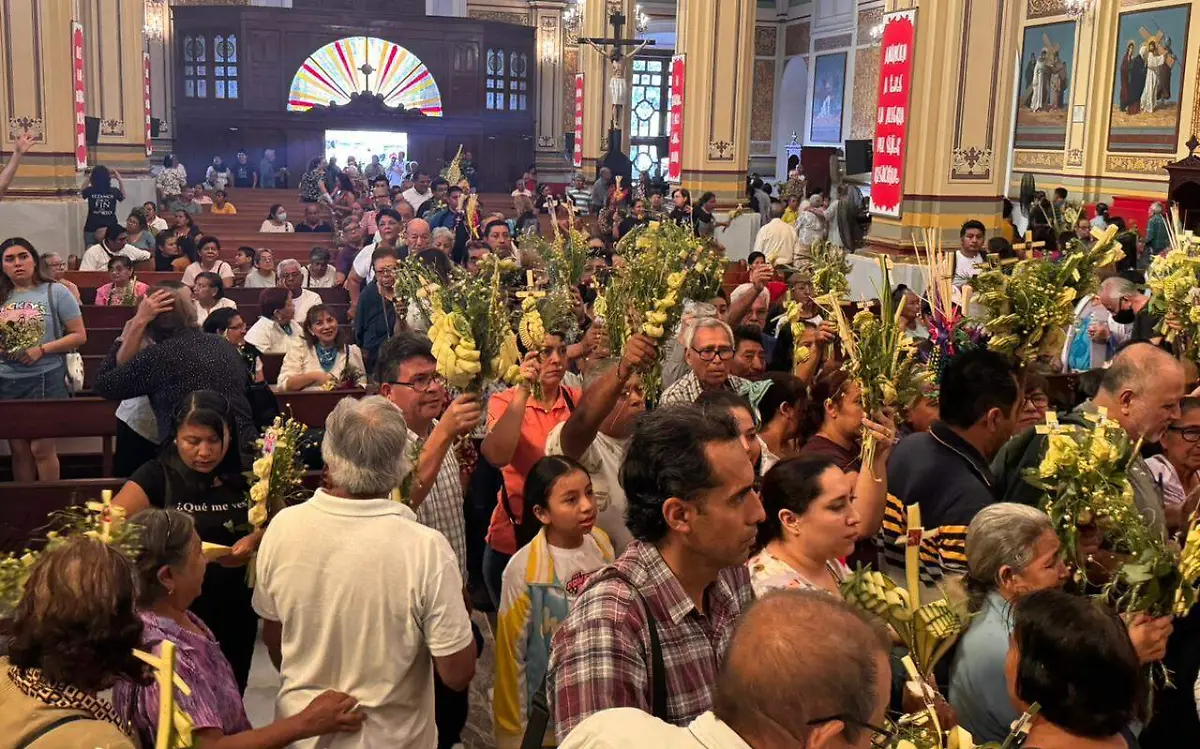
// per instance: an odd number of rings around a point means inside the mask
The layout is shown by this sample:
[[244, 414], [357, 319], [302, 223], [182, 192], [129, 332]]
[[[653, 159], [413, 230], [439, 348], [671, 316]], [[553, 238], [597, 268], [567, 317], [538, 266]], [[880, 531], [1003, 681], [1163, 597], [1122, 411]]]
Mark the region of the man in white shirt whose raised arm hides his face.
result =
[[575, 459], [592, 474], [596, 525], [608, 534], [618, 555], [634, 540], [625, 527], [625, 491], [619, 474], [632, 439], [634, 421], [646, 413], [646, 393], [638, 372], [647, 370], [656, 356], [653, 338], [632, 336], [619, 360], [607, 359], [588, 370], [578, 408], [546, 437], [546, 455]]

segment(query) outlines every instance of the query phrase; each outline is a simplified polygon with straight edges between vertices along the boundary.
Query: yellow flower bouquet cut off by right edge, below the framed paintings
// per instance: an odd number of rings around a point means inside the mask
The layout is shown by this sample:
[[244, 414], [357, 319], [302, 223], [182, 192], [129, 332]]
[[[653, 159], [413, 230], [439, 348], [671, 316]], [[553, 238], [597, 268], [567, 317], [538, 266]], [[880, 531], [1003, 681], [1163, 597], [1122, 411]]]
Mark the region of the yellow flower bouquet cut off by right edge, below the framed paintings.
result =
[[1200, 245], [1177, 228], [1178, 209], [1168, 221], [1170, 247], [1146, 270], [1151, 313], [1163, 318], [1158, 331], [1184, 356], [1200, 355]]

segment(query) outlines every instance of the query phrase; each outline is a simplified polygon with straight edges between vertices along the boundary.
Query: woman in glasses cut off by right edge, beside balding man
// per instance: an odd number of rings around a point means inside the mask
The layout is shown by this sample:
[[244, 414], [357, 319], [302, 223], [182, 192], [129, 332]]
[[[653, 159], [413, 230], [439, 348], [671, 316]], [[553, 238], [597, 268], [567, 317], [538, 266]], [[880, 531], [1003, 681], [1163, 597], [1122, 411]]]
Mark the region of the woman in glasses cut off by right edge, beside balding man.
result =
[[1178, 532], [1200, 499], [1200, 397], [1180, 401], [1180, 417], [1158, 442], [1163, 451], [1146, 459], [1154, 483], [1163, 492], [1166, 528]]

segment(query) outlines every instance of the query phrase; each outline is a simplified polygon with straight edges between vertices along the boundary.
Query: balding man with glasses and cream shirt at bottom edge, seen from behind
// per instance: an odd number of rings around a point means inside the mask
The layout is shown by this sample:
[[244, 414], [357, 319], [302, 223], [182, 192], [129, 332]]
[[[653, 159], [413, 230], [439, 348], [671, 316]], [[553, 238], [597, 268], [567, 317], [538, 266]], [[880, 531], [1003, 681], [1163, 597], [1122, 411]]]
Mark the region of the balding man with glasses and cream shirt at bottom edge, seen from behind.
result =
[[560, 749], [869, 749], [884, 747], [888, 636], [816, 591], [780, 591], [742, 617], [716, 678], [713, 709], [685, 726], [618, 708], [596, 713]]

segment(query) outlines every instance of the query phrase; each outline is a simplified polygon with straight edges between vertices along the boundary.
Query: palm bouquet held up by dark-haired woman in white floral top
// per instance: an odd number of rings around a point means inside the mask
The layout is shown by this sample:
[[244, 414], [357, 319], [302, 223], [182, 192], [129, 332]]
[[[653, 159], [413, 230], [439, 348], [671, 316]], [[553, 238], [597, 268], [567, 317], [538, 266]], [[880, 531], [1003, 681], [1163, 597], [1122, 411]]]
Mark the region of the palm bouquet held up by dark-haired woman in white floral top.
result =
[[[884, 409], [901, 418], [922, 396], [922, 388], [930, 382], [929, 370], [922, 365], [913, 340], [900, 325], [901, 307], [892, 304], [890, 262], [878, 258], [882, 288], [880, 314], [859, 310], [852, 320], [846, 319], [841, 305], [834, 300], [829, 312], [838, 322], [838, 338], [846, 353], [845, 367], [858, 384], [859, 402], [868, 415]], [[828, 298], [827, 298], [828, 299]], [[875, 460], [875, 437], [863, 436], [863, 467], [871, 471]]]

